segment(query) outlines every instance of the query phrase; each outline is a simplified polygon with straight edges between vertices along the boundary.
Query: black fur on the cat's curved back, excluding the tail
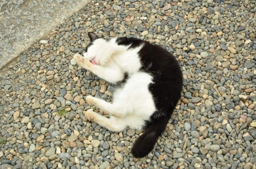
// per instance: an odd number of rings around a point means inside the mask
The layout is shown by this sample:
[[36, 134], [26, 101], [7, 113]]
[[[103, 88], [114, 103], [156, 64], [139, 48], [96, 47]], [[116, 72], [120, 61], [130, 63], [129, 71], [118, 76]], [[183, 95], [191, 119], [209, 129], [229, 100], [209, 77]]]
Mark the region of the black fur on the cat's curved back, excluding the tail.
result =
[[153, 97], [157, 98], [156, 108], [162, 110], [173, 108], [180, 98], [183, 82], [176, 58], [163, 47], [136, 38], [119, 38], [117, 42], [119, 45], [130, 45], [130, 50], [142, 46], [139, 51], [140, 71], [153, 77], [149, 90]]

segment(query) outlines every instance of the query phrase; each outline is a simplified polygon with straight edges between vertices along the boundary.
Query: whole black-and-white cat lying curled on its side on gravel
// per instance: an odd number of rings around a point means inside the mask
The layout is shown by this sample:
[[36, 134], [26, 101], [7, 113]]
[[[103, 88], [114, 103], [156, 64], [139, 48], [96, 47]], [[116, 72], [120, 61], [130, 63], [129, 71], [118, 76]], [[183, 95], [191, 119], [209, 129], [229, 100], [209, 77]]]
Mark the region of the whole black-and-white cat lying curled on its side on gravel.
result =
[[84, 56], [74, 55], [77, 64], [116, 85], [113, 102], [87, 96], [89, 105], [110, 114], [106, 118], [87, 111], [87, 119], [113, 132], [127, 126], [145, 129], [131, 153], [146, 156], [164, 131], [181, 96], [182, 72], [178, 61], [167, 50], [136, 38], [106, 40], [88, 33], [91, 43]]

